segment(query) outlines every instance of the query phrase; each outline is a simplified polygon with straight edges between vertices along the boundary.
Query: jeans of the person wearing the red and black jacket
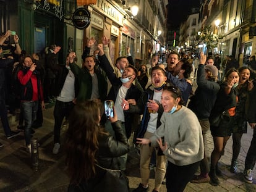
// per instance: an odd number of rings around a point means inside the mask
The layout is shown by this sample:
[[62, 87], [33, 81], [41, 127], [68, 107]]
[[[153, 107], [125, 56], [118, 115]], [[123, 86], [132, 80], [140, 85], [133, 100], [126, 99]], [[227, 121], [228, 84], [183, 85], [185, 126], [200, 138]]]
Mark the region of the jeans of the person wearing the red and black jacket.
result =
[[35, 120], [36, 112], [38, 109], [38, 101], [21, 101], [20, 109], [23, 113], [23, 118], [25, 122], [24, 126], [24, 136], [26, 145], [30, 144], [30, 139], [32, 138], [30, 131], [32, 123]]

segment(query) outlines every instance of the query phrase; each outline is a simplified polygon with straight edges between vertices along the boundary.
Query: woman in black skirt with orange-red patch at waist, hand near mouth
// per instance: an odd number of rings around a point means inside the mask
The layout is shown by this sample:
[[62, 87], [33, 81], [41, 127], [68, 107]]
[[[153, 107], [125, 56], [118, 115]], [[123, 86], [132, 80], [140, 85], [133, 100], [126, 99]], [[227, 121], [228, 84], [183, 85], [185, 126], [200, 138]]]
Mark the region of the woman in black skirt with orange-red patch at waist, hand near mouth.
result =
[[[239, 72], [236, 69], [230, 69], [225, 74], [223, 82], [220, 83], [220, 91], [218, 91], [217, 99], [211, 114], [210, 129], [213, 136], [214, 149], [211, 152], [211, 168], [209, 172], [211, 185], [220, 184], [216, 175], [221, 175], [218, 169], [218, 161], [224, 152], [229, 137], [233, 131], [234, 115], [236, 114], [237, 90], [236, 86], [239, 82]], [[219, 123], [213, 123], [213, 119], [218, 117]]]

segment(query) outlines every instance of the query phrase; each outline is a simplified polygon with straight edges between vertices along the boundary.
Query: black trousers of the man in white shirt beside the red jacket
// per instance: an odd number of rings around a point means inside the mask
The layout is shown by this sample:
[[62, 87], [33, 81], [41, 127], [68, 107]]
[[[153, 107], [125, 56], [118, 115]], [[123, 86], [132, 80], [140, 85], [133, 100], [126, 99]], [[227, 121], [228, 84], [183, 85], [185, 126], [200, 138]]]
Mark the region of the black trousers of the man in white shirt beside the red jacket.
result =
[[54, 107], [54, 143], [60, 143], [61, 137], [61, 125], [64, 117], [69, 117], [70, 111], [74, 107], [74, 102], [62, 102], [56, 100], [56, 104]]

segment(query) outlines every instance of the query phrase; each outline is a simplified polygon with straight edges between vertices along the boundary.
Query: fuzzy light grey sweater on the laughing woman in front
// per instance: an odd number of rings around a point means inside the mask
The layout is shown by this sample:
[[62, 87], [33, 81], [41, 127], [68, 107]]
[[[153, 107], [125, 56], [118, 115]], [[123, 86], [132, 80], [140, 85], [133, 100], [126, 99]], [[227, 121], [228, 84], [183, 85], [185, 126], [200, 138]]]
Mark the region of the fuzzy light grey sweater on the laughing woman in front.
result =
[[163, 151], [169, 162], [183, 166], [203, 159], [203, 136], [197, 116], [185, 106], [173, 114], [164, 112], [161, 125], [150, 138], [158, 146], [157, 138], [164, 137], [168, 148]]

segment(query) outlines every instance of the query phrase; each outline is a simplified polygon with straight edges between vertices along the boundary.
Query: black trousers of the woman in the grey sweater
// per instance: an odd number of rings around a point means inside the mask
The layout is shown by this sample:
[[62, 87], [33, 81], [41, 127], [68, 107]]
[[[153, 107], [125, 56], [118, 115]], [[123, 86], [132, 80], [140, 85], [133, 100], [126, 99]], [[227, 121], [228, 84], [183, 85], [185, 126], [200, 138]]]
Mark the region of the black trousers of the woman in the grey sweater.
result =
[[194, 173], [197, 171], [200, 161], [194, 164], [177, 166], [168, 161], [166, 170], [166, 188], [167, 192], [184, 191], [187, 183], [190, 182]]

